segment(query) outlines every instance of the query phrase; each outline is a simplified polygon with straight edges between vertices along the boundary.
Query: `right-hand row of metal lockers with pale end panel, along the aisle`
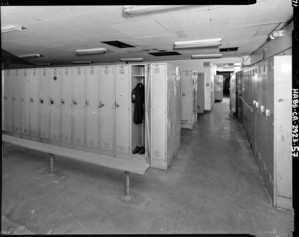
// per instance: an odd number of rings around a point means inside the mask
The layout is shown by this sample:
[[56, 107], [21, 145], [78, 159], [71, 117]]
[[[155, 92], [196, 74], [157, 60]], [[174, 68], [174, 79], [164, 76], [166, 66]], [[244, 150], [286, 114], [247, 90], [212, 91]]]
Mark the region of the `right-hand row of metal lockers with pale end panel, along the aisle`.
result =
[[236, 114], [275, 206], [292, 208], [292, 57], [236, 74]]

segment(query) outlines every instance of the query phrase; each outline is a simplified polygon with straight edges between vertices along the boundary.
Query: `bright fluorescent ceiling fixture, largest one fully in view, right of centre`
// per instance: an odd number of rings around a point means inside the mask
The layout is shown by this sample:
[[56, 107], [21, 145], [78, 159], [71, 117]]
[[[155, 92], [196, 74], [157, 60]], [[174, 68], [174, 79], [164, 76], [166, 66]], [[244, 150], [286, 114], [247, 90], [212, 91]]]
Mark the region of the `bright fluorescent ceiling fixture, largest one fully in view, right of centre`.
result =
[[205, 47], [218, 47], [221, 45], [221, 38], [204, 39], [204, 40], [191, 40], [174, 42], [174, 49], [194, 49]]

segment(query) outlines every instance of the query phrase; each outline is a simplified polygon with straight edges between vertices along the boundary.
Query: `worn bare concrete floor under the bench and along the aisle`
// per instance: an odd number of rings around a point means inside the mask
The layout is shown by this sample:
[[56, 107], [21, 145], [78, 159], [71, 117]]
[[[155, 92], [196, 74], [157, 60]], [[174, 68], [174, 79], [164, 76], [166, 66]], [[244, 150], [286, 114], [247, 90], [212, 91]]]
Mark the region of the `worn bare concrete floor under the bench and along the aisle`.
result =
[[[7, 145], [2, 159], [2, 233], [248, 233], [291, 236], [293, 212], [271, 205], [229, 100], [182, 130], [169, 170], [131, 176]], [[15, 226], [12, 226], [12, 224]], [[21, 226], [21, 227], [20, 227]]]

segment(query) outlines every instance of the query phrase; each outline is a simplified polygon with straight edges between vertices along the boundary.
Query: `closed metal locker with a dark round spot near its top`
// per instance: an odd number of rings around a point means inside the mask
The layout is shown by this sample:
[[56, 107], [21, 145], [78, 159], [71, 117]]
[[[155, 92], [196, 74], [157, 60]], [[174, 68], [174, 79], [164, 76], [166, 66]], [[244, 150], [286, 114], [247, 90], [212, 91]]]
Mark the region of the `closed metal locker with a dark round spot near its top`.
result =
[[60, 68], [50, 69], [50, 136], [53, 142], [60, 141], [61, 131], [61, 72]]

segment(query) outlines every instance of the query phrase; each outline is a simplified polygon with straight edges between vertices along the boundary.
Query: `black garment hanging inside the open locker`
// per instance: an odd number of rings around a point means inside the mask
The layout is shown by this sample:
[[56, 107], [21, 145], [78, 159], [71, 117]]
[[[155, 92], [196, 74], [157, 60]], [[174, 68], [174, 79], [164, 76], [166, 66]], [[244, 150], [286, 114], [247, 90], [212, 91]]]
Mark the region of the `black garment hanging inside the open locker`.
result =
[[140, 124], [143, 120], [144, 85], [138, 83], [132, 91], [132, 103], [134, 106], [134, 123]]

